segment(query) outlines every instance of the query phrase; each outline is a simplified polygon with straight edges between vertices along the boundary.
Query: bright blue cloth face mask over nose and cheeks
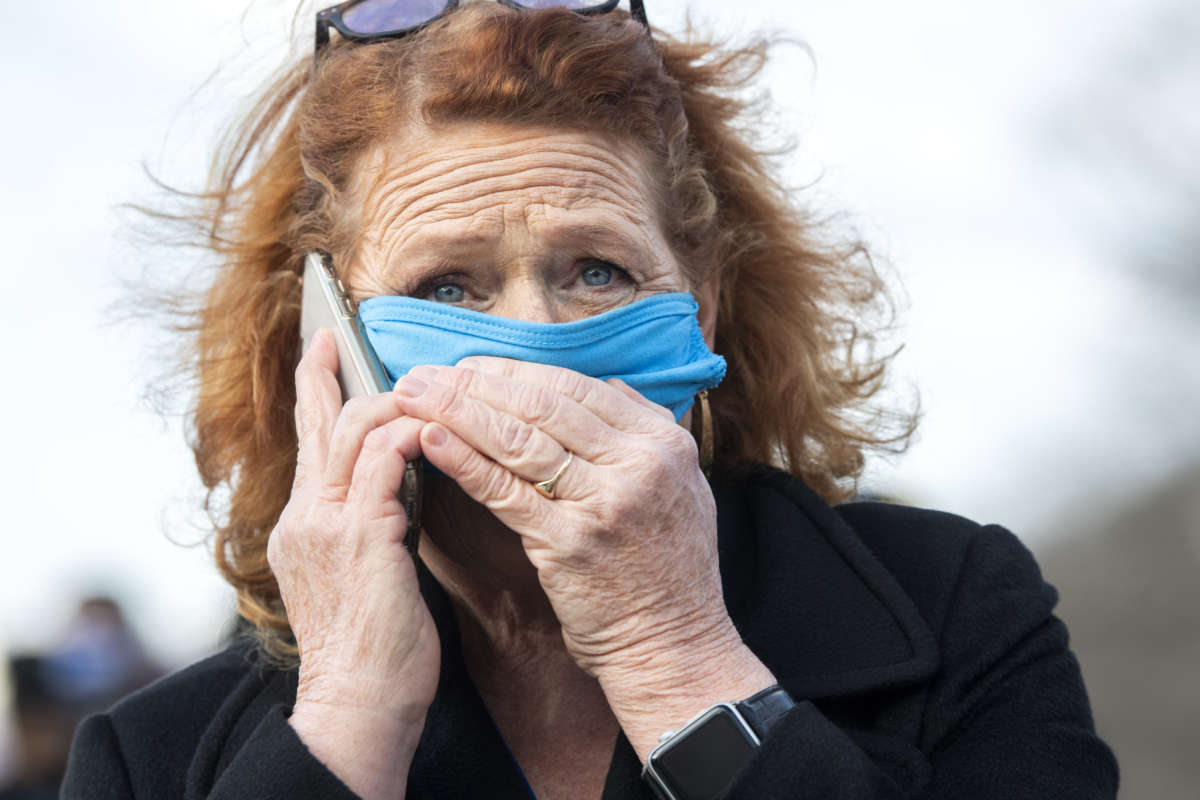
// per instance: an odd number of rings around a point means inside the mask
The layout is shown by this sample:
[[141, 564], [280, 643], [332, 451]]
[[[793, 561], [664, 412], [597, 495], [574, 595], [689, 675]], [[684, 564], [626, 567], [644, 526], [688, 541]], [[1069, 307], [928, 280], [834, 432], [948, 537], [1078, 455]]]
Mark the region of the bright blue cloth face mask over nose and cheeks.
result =
[[620, 378], [671, 409], [725, 377], [725, 359], [704, 344], [690, 294], [660, 294], [574, 323], [529, 323], [457, 306], [384, 295], [359, 303], [379, 361], [395, 381], [418, 365], [451, 366], [469, 355], [566, 367]]

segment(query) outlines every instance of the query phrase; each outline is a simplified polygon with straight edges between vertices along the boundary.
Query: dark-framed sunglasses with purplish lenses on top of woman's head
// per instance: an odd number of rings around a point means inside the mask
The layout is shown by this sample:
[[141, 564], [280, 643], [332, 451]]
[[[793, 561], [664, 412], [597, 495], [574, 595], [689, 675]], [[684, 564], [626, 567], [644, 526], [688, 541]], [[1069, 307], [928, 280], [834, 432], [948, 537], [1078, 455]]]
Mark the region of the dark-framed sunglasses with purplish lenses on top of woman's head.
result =
[[[580, 14], [602, 14], [617, 7], [618, 0], [498, 0], [512, 8], [569, 8]], [[458, 0], [349, 0], [317, 12], [316, 53], [329, 44], [329, 29], [343, 37], [362, 42], [398, 38], [418, 31], [458, 6]], [[646, 6], [629, 0], [629, 13], [642, 25]]]

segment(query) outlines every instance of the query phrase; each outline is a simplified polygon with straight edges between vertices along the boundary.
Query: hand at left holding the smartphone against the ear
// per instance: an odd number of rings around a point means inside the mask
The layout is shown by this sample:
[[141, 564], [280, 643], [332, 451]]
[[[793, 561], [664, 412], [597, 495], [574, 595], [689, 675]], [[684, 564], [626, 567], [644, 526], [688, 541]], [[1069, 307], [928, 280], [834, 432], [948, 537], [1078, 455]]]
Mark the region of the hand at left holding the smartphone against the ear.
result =
[[360, 795], [403, 796], [440, 648], [396, 492], [422, 422], [395, 395], [342, 407], [319, 331], [296, 368], [299, 455], [266, 558], [300, 648], [292, 726]]

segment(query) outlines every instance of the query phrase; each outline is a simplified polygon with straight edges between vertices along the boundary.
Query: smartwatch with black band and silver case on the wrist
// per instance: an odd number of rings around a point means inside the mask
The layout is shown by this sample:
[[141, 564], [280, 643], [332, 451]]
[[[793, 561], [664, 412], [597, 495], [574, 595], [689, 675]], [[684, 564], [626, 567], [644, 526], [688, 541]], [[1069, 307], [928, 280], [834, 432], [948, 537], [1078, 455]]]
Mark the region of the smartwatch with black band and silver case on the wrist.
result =
[[718, 703], [679, 730], [662, 734], [646, 759], [642, 780], [660, 800], [716, 800], [794, 705], [779, 685], [739, 703]]

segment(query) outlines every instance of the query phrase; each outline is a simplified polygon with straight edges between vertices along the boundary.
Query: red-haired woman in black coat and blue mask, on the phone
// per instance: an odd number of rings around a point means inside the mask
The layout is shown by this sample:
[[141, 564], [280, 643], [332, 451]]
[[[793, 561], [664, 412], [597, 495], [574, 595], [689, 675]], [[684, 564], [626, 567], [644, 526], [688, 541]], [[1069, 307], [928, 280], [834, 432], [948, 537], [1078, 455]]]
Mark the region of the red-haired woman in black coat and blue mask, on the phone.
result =
[[[906, 432], [870, 264], [739, 133], [762, 50], [454, 5], [322, 12], [241, 122], [194, 449], [254, 637], [82, 726], [65, 796], [1114, 796], [1018, 541], [828, 505]], [[395, 391], [343, 407], [328, 333], [293, 378], [317, 249]]]

